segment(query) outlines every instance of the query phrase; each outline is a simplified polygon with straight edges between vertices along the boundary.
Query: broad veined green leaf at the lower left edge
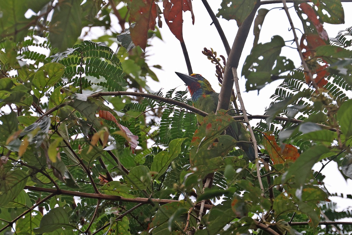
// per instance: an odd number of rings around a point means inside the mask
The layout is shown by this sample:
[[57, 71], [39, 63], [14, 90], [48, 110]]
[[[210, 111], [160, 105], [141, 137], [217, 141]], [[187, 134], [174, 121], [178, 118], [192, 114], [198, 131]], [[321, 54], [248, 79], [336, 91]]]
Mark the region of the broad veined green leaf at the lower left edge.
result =
[[11, 166], [6, 165], [0, 171], [0, 206], [6, 206], [16, 198], [27, 182], [28, 175], [23, 170], [10, 171], [10, 169]]

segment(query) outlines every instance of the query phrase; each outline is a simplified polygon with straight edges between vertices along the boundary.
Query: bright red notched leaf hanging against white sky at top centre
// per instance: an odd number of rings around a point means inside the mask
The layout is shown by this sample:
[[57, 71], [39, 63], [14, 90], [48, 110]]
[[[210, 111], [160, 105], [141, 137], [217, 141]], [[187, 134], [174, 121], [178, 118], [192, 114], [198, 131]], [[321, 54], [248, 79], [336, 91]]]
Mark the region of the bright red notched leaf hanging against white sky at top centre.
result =
[[191, 0], [164, 0], [164, 18], [170, 31], [176, 38], [183, 42], [182, 36], [182, 11], [190, 11], [192, 14], [192, 23], [194, 24], [194, 14]]

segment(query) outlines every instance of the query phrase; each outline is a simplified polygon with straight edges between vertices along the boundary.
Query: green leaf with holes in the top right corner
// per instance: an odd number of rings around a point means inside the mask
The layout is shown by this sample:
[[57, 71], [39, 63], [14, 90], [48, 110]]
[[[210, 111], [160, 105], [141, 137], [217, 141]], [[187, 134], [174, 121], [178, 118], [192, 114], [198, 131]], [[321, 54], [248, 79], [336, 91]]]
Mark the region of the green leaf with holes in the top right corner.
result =
[[312, 0], [319, 17], [329, 24], [344, 24], [345, 13], [340, 0]]

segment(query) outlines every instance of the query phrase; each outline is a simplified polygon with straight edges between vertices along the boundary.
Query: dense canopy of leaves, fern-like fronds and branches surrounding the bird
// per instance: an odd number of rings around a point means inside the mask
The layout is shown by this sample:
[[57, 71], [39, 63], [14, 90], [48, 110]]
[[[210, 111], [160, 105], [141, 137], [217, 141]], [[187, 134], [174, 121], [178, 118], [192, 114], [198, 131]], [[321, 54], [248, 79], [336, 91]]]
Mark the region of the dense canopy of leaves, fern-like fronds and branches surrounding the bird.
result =
[[[196, 11], [190, 0], [0, 0], [0, 232], [351, 233], [352, 222], [337, 220], [352, 212], [329, 200], [343, 195], [329, 194], [312, 167], [335, 161], [352, 178], [352, 27], [335, 38], [323, 27], [344, 23], [339, 0], [293, 2], [302, 25], [289, 27], [301, 65], [282, 55], [289, 42], [280, 35], [258, 43], [270, 14], [265, 1], [222, 0], [216, 16], [203, 1], [228, 55], [203, 51], [223, 86], [217, 112], [199, 125], [195, 113], [204, 113], [186, 91], [146, 90], [146, 78], [158, 81], [145, 61], [148, 40], [161, 37], [163, 16], [185, 49], [182, 14], [194, 22]], [[290, 19], [286, 1], [274, 6], [282, 4]], [[216, 17], [237, 22], [233, 48]], [[264, 115], [248, 116], [237, 67], [253, 22], [246, 89], [282, 83]], [[95, 27], [107, 35], [80, 39]], [[185, 60], [191, 73], [186, 51]], [[233, 82], [235, 117], [221, 109]], [[260, 119], [249, 126], [262, 152], [254, 162], [224, 134], [248, 118]]]

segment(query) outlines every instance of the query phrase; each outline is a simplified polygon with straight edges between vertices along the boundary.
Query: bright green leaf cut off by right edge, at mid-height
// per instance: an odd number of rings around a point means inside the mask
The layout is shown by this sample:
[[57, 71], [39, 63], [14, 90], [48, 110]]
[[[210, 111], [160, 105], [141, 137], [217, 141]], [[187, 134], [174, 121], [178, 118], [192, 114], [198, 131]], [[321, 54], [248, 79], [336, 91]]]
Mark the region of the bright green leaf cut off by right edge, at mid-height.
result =
[[337, 120], [341, 127], [342, 134], [346, 139], [352, 136], [352, 100], [347, 100], [342, 103], [339, 111], [337, 112]]

